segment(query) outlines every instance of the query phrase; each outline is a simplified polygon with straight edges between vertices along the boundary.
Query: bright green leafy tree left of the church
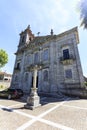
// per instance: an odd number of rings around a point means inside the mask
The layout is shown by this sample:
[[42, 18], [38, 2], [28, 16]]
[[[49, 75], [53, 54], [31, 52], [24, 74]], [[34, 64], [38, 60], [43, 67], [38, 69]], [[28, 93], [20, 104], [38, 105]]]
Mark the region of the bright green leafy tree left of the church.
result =
[[0, 68], [8, 62], [8, 54], [3, 49], [0, 49]]

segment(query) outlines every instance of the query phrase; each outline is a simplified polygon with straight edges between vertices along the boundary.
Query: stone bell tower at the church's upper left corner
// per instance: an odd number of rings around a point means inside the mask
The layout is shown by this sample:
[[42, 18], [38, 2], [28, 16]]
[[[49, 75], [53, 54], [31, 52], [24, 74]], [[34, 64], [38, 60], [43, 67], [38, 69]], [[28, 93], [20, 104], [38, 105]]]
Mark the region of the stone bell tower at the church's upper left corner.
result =
[[34, 34], [32, 34], [32, 31], [30, 29], [30, 25], [20, 33], [20, 40], [19, 40], [19, 46], [22, 47], [26, 44], [29, 44], [30, 41], [34, 39]]

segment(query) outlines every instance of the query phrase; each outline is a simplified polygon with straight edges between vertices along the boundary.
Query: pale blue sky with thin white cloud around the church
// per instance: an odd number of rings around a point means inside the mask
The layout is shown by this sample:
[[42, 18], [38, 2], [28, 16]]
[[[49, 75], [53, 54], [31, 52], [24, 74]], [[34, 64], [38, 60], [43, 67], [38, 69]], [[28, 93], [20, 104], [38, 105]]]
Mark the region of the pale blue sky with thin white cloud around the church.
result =
[[87, 76], [87, 30], [80, 27], [79, 0], [0, 0], [0, 49], [8, 53], [2, 71], [13, 73], [19, 34], [28, 25], [35, 36], [54, 34], [78, 26], [78, 45], [83, 74]]

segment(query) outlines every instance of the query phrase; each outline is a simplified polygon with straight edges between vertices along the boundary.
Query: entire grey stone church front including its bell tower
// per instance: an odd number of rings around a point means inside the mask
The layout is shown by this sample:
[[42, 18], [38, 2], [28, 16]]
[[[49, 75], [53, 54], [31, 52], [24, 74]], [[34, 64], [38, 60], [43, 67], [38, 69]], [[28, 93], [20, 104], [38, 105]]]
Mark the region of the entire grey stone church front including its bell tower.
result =
[[[77, 27], [64, 33], [34, 36], [28, 26], [20, 33], [11, 87], [30, 93], [32, 67], [41, 66], [37, 74], [37, 88], [41, 93], [73, 93], [83, 86], [83, 73], [78, 52]], [[74, 91], [75, 93], [75, 91]]]

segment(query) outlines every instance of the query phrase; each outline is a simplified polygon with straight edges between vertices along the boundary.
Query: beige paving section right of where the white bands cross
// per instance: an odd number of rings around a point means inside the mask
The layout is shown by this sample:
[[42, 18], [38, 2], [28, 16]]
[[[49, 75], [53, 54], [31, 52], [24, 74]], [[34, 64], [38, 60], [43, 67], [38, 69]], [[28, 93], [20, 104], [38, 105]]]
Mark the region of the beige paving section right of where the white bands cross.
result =
[[87, 130], [87, 110], [61, 106], [60, 108], [47, 114], [44, 119], [73, 129]]

